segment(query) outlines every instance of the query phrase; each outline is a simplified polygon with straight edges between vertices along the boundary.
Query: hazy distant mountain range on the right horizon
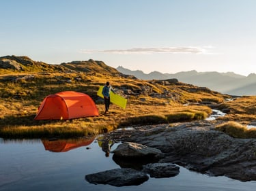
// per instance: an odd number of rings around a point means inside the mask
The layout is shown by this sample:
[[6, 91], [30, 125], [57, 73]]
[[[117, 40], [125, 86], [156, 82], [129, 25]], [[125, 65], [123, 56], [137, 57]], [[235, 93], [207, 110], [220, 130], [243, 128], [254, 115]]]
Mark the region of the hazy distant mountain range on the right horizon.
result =
[[233, 72], [197, 72], [193, 70], [178, 73], [160, 73], [158, 71], [153, 71], [147, 74], [140, 70], [132, 71], [122, 66], [117, 67], [117, 70], [126, 75], [134, 75], [134, 77], [141, 80], [166, 80], [176, 78], [179, 82], [207, 87], [223, 94], [236, 96], [256, 95], [255, 73], [244, 76]]

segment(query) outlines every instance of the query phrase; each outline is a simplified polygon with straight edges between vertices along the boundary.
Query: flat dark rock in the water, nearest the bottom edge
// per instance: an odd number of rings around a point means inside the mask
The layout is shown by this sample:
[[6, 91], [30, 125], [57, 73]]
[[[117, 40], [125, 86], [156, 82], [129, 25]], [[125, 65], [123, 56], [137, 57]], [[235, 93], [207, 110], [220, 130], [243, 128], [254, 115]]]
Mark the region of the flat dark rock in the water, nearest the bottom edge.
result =
[[112, 169], [90, 175], [85, 179], [91, 184], [109, 184], [112, 186], [137, 186], [147, 181], [146, 173], [134, 169]]

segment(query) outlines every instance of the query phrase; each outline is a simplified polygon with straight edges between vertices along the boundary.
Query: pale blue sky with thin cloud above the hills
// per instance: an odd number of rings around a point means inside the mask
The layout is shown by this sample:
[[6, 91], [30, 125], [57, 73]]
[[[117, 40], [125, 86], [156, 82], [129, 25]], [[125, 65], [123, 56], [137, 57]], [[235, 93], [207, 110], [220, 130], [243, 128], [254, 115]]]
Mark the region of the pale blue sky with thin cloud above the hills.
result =
[[255, 0], [1, 0], [0, 56], [256, 73]]

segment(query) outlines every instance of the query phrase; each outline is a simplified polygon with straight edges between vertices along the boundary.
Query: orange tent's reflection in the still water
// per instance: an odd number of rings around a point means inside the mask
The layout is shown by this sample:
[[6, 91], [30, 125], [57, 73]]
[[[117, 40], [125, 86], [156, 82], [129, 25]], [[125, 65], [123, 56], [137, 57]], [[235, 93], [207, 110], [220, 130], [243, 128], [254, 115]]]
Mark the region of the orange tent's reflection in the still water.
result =
[[94, 141], [94, 137], [85, 139], [59, 139], [50, 141], [48, 139], [42, 139], [45, 150], [51, 152], [68, 152], [78, 147], [84, 147], [90, 145]]

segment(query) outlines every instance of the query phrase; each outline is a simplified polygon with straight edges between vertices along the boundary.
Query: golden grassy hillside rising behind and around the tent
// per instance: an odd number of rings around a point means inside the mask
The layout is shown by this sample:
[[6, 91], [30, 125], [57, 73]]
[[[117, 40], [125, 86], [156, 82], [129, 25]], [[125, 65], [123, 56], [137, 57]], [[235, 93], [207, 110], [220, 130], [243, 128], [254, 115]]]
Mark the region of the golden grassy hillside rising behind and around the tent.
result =
[[[0, 68], [6, 59], [6, 56], [0, 58]], [[208, 88], [175, 80], [137, 80], [101, 61], [76, 61], [53, 66], [25, 56], [10, 56], [8, 59], [23, 70], [0, 69], [0, 137], [5, 138], [76, 137], [96, 135], [121, 126], [201, 120], [211, 113], [210, 107], [201, 103], [218, 105], [229, 98]], [[104, 115], [103, 100], [97, 97], [96, 92], [106, 81], [110, 81], [115, 91], [128, 99], [126, 109], [111, 105], [111, 113]], [[89, 94], [100, 116], [33, 120], [48, 94], [66, 90]], [[246, 112], [244, 110], [244, 115]]]

